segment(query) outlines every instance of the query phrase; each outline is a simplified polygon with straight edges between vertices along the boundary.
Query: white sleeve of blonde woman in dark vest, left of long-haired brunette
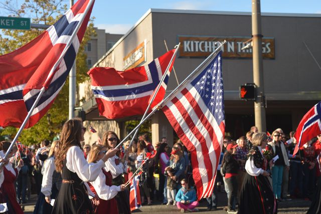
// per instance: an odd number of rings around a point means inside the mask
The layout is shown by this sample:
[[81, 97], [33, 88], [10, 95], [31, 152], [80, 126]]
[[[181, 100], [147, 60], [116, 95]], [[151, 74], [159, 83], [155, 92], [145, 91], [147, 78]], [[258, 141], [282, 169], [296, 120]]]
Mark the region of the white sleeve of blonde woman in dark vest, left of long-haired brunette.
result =
[[45, 161], [43, 169], [44, 169], [44, 176], [42, 178], [41, 192], [45, 196], [50, 196], [51, 187], [52, 187], [52, 176], [54, 174], [54, 171], [56, 170], [55, 160], [53, 157]]

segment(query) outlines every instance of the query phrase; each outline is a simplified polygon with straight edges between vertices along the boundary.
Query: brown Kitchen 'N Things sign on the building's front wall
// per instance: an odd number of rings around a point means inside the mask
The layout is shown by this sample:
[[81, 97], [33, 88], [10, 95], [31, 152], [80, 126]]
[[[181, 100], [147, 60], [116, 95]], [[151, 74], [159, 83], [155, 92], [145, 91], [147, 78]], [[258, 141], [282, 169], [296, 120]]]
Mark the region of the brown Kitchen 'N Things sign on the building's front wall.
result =
[[[219, 46], [216, 42], [226, 40], [223, 57], [252, 58], [252, 48], [241, 50], [249, 43], [249, 39], [251, 38], [178, 36], [178, 41], [182, 44], [180, 57], [208, 57]], [[274, 59], [274, 38], [262, 38], [262, 56], [265, 59]]]

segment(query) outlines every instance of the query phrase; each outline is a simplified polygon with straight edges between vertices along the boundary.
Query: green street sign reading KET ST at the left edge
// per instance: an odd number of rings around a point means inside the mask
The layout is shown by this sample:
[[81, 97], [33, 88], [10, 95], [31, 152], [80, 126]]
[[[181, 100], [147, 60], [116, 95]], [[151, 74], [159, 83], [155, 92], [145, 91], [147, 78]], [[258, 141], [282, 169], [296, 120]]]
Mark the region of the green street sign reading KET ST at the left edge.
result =
[[0, 17], [0, 29], [30, 30], [30, 18]]

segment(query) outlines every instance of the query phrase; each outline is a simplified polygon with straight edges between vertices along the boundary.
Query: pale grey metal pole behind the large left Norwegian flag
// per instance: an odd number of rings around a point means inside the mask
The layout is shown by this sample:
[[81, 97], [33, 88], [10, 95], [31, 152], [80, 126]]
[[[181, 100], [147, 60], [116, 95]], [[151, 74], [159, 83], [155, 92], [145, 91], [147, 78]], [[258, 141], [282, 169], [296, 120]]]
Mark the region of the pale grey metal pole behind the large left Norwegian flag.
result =
[[[74, 5], [74, 0], [70, 0], [70, 8]], [[75, 117], [76, 105], [76, 59], [69, 72], [69, 119]]]

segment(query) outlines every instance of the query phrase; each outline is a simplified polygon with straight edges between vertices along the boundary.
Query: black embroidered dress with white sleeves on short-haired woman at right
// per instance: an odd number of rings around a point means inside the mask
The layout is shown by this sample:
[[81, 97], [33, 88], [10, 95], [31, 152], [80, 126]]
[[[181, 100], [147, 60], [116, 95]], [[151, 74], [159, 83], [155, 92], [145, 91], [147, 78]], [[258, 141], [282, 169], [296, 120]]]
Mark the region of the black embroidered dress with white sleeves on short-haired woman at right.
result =
[[268, 177], [262, 175], [267, 164], [261, 147], [253, 146], [245, 164], [246, 174], [239, 197], [239, 214], [277, 213], [272, 187]]

